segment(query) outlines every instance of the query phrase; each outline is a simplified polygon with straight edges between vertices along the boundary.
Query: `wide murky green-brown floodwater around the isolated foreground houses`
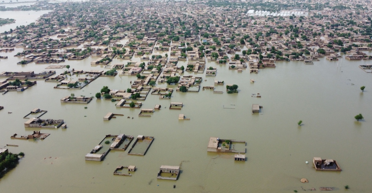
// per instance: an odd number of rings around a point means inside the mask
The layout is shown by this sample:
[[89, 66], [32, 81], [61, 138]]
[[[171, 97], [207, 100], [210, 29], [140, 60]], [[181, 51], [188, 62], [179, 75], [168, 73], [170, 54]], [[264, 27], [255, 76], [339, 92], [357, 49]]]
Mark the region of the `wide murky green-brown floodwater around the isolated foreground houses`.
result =
[[[17, 52], [1, 52], [8, 59], [0, 60], [0, 71], [39, 73], [51, 64], [17, 65]], [[372, 54], [369, 52], [368, 54]], [[169, 54], [170, 55], [170, 54]], [[344, 55], [343, 55], [344, 56]], [[66, 61], [70, 69], [106, 70], [91, 66], [90, 61]], [[139, 58], [133, 59], [139, 61]], [[110, 64], [129, 60], [114, 59]], [[285, 193], [314, 187], [335, 187], [344, 192], [370, 192], [372, 184], [372, 73], [357, 65], [372, 61], [337, 61], [325, 58], [306, 65], [302, 61], [277, 62], [276, 68], [260, 69], [259, 73], [228, 70], [228, 64], [208, 62], [217, 67], [217, 76], [187, 72], [184, 75], [203, 77], [201, 86], [213, 86], [214, 80], [225, 85], [210, 90], [181, 93], [174, 91], [170, 100], [149, 94], [141, 101], [144, 109], [156, 110], [151, 117], [139, 117], [140, 109], [117, 108], [110, 100], [94, 99], [89, 104], [60, 103], [60, 99], [75, 96], [94, 96], [103, 86], [127, 89], [135, 76], [99, 77], [81, 90], [53, 89], [57, 83], [39, 80], [24, 92], [9, 91], [0, 95], [0, 146], [10, 152], [24, 152], [18, 166], [0, 179], [2, 192], [107, 192], [108, 187], [132, 192], [263, 192]], [[146, 63], [146, 61], [145, 61]], [[180, 62], [179, 65], [186, 65]], [[55, 65], [55, 64], [52, 64]], [[62, 73], [66, 69], [54, 69]], [[255, 83], [250, 83], [254, 79]], [[237, 84], [238, 94], [227, 94], [226, 84]], [[364, 92], [359, 88], [366, 86]], [[166, 83], [156, 87], [170, 87]], [[251, 94], [260, 93], [259, 97]], [[183, 102], [181, 110], [169, 109], [170, 102]], [[223, 106], [234, 105], [234, 109]], [[260, 114], [251, 114], [251, 105], [263, 106]], [[87, 109], [84, 109], [84, 107]], [[41, 129], [50, 133], [44, 140], [17, 140], [10, 136], [26, 135], [36, 128], [25, 129], [23, 119], [32, 109], [48, 110], [42, 119], [64, 119], [67, 129]], [[8, 114], [7, 112], [12, 112]], [[103, 121], [108, 112], [124, 114]], [[362, 113], [362, 121], [353, 117]], [[190, 120], [178, 120], [185, 114]], [[126, 119], [126, 116], [134, 119]], [[297, 122], [302, 120], [302, 126]], [[85, 161], [84, 156], [105, 135], [154, 136], [145, 156], [128, 155], [126, 151], [111, 151], [102, 162]], [[234, 153], [207, 152], [209, 137], [245, 140], [246, 162], [234, 161]], [[237, 148], [238, 149], [238, 148]], [[240, 149], [240, 147], [239, 147]], [[49, 158], [51, 157], [51, 158]], [[312, 158], [334, 159], [342, 172], [315, 171]], [[306, 164], [305, 162], [310, 162]], [[132, 177], [115, 177], [119, 165], [137, 167]], [[161, 165], [179, 166], [182, 172], [177, 181], [156, 179]], [[309, 183], [301, 183], [301, 178]], [[157, 186], [159, 185], [159, 186]]]

